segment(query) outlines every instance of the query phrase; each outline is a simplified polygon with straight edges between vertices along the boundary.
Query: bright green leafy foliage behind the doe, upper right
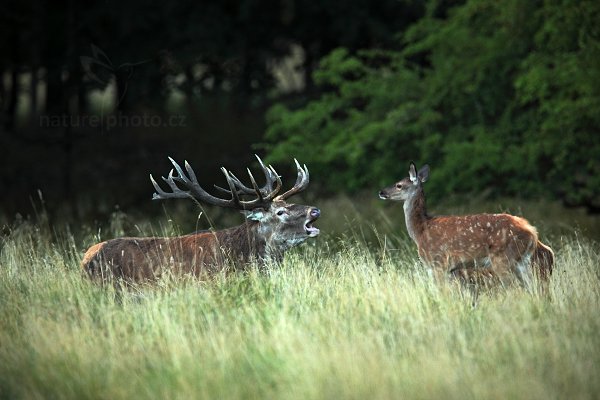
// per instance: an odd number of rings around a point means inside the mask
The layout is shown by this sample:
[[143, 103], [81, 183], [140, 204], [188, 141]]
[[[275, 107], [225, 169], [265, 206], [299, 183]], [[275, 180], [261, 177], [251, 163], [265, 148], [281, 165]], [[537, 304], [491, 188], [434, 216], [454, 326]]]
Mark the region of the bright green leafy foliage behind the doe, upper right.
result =
[[301, 154], [331, 190], [428, 162], [437, 196], [551, 195], [598, 210], [600, 3], [475, 0], [446, 15], [432, 2], [427, 14], [396, 50], [322, 59], [320, 95], [270, 109], [271, 160]]

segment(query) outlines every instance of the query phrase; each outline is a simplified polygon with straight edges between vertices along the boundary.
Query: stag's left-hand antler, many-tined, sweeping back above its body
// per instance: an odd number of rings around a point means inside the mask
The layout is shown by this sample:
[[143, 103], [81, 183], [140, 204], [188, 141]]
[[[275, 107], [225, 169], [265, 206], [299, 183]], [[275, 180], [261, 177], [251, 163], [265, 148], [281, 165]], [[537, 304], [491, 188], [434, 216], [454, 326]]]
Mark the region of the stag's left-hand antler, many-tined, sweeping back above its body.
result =
[[[152, 195], [153, 200], [164, 200], [164, 199], [182, 199], [182, 198], [191, 198], [203, 201], [208, 204], [216, 205], [219, 207], [228, 207], [235, 208], [240, 210], [252, 210], [254, 208], [263, 207], [266, 208], [273, 201], [277, 193], [281, 190], [281, 178], [275, 172], [275, 169], [269, 165], [269, 167], [265, 167], [262, 160], [256, 156], [260, 166], [265, 174], [266, 184], [259, 188], [256, 184], [256, 180], [248, 169], [248, 175], [250, 176], [250, 181], [252, 182], [252, 188], [245, 186], [231, 171], [227, 171], [225, 168], [221, 168], [223, 175], [225, 175], [225, 179], [227, 180], [227, 185], [229, 189], [223, 189], [219, 186], [216, 186], [219, 190], [230, 194], [231, 199], [221, 199], [219, 197], [215, 197], [204, 190], [198, 180], [196, 178], [196, 174], [194, 170], [190, 166], [190, 164], [185, 161], [185, 169], [187, 174], [184, 173], [182, 168], [169, 157], [169, 160], [175, 167], [177, 171], [177, 175], [173, 175], [173, 169], [169, 172], [169, 176], [167, 178], [162, 177], [162, 179], [169, 185], [172, 192], [165, 192], [158, 185], [158, 183], [154, 180], [152, 174], [150, 175], [150, 180], [152, 181], [152, 185], [154, 185], [154, 189], [156, 189], [156, 193]], [[188, 190], [182, 190], [177, 183], [182, 184]], [[273, 187], [275, 185], [275, 187]], [[253, 200], [241, 200], [240, 196], [256, 196]], [[285, 194], [284, 194], [285, 195]], [[279, 198], [281, 196], [277, 196]]]

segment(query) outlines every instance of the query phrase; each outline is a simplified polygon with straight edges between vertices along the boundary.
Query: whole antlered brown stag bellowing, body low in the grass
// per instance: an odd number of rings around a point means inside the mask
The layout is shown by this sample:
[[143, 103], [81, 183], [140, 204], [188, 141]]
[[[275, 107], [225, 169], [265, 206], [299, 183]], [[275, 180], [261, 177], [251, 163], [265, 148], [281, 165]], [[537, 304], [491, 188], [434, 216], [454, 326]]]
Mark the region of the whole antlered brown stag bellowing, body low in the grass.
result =
[[[249, 262], [279, 261], [286, 250], [319, 234], [313, 222], [319, 217], [318, 208], [288, 204], [286, 199], [306, 189], [309, 174], [306, 165], [296, 162], [298, 177], [295, 185], [279, 194], [281, 178], [273, 167], [257, 159], [265, 174], [266, 183], [259, 188], [248, 169], [252, 187], [244, 185], [235, 175], [221, 168], [229, 189], [229, 199], [215, 197], [199, 184], [190, 165], [186, 172], [173, 159], [175, 170], [163, 180], [171, 192], [166, 192], [150, 179], [156, 193], [153, 200], [196, 199], [207, 204], [233, 208], [246, 214], [246, 221], [235, 228], [193, 233], [178, 237], [119, 238], [96, 244], [85, 253], [82, 268], [92, 278], [124, 278], [127, 281], [152, 281], [169, 271], [176, 275], [202, 276], [229, 268], [243, 268]], [[181, 189], [185, 188], [187, 190]], [[253, 197], [250, 200], [244, 198]]]

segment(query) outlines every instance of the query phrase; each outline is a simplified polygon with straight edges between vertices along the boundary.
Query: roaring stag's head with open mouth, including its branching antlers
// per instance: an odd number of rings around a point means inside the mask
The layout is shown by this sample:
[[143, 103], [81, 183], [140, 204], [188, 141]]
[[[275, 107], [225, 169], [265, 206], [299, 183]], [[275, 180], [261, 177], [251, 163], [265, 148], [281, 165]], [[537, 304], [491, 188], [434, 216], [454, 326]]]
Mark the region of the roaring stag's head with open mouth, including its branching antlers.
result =
[[317, 236], [319, 229], [314, 227], [313, 223], [319, 218], [320, 210], [312, 206], [286, 202], [289, 197], [307, 188], [309, 173], [306, 165], [302, 167], [297, 160], [294, 160], [298, 171], [296, 183], [287, 192], [279, 194], [282, 188], [281, 177], [271, 165], [267, 167], [258, 156], [256, 158], [265, 175], [264, 186], [258, 186], [250, 169], [248, 169], [248, 176], [251, 186], [246, 186], [231, 171], [221, 168], [228, 188], [216, 185], [215, 187], [228, 197], [226, 199], [215, 197], [205, 191], [187, 161], [185, 162], [186, 173], [179, 164], [169, 158], [174, 169], [168, 177], [163, 177], [163, 180], [169, 185], [171, 192], [163, 191], [150, 175], [156, 189], [152, 198], [154, 200], [191, 198], [207, 204], [240, 210], [246, 215], [249, 223], [256, 225], [257, 233], [272, 250], [286, 250], [310, 237]]

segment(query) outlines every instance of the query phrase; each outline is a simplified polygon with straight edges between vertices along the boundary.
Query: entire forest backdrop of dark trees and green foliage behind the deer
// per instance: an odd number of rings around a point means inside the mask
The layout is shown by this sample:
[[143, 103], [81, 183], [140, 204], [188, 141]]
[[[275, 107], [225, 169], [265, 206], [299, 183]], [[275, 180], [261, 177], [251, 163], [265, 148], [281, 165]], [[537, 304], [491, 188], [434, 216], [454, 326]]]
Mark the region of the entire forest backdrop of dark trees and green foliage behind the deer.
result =
[[311, 194], [428, 194], [600, 211], [600, 2], [3, 1], [1, 210], [152, 207], [149, 173], [206, 186], [253, 154]]

